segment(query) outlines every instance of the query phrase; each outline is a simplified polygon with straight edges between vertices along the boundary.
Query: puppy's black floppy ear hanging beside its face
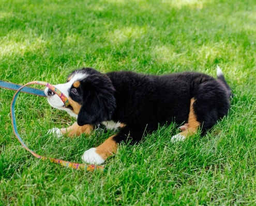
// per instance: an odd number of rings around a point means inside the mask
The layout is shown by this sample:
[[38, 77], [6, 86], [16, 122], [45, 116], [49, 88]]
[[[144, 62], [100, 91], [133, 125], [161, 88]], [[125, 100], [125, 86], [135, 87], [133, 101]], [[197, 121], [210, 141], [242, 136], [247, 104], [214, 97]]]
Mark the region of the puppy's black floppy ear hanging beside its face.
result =
[[81, 82], [83, 104], [78, 113], [78, 125], [97, 125], [110, 120], [116, 108], [115, 89], [107, 75], [97, 73]]

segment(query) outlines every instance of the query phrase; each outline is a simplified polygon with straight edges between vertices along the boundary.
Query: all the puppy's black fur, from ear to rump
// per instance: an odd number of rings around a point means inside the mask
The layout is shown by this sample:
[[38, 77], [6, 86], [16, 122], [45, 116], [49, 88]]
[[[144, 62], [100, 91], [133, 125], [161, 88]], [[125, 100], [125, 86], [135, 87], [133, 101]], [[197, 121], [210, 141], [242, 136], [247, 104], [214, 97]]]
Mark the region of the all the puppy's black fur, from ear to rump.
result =
[[[124, 123], [114, 140], [132, 142], [142, 139], [158, 125], [186, 123], [190, 100], [202, 131], [214, 126], [228, 114], [230, 88], [224, 77], [218, 79], [201, 73], [143, 75], [132, 72], [101, 74], [92, 68], [74, 71], [88, 74], [81, 81], [82, 107], [78, 124], [96, 125], [112, 120]], [[72, 74], [71, 74], [72, 75]]]

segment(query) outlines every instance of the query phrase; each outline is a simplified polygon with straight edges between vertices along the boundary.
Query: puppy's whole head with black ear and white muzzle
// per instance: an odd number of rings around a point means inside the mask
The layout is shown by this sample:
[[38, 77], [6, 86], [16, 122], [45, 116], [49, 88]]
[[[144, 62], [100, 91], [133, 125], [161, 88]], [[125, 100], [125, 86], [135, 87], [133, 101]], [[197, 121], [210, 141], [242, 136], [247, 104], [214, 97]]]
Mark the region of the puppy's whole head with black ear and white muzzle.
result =
[[50, 89], [44, 90], [49, 104], [67, 111], [77, 118], [78, 125], [97, 125], [110, 120], [116, 108], [115, 89], [107, 75], [93, 68], [73, 71], [64, 84], [55, 87], [66, 95], [70, 105], [64, 107], [62, 100]]

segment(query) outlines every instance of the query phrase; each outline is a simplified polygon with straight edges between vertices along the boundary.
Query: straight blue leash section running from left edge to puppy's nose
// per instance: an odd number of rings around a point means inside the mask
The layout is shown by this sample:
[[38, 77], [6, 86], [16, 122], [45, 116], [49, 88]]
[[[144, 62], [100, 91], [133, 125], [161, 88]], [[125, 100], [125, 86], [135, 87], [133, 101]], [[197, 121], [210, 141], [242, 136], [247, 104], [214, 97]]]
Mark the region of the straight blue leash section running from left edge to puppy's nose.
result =
[[[14, 83], [10, 83], [10, 82], [7, 82], [7, 81], [1, 81], [0, 80], [0, 87], [5, 88], [5, 89], [9, 89], [9, 90], [18, 91], [22, 86], [19, 85], [19, 84], [14, 84]], [[21, 89], [21, 92], [46, 97], [46, 94], [44, 94], [44, 91], [39, 90], [39, 89], [35, 89], [35, 88], [32, 88], [32, 87], [24, 87], [24, 88]]]

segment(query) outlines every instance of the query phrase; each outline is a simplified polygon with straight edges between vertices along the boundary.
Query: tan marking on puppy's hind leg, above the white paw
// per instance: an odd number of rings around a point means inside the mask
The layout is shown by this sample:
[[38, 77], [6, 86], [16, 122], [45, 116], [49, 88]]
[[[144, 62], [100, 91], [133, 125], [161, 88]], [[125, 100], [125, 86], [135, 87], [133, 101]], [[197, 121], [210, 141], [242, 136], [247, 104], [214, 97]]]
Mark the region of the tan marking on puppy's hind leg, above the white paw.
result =
[[194, 133], [197, 132], [198, 128], [200, 127], [200, 123], [197, 121], [197, 117], [195, 116], [194, 113], [194, 109], [193, 109], [193, 104], [194, 104], [195, 99], [192, 98], [190, 101], [190, 111], [189, 111], [189, 115], [188, 115], [188, 123], [186, 126], [188, 126], [188, 128], [183, 131], [180, 132], [180, 135], [183, 136], [189, 136], [189, 135], [193, 135]]

